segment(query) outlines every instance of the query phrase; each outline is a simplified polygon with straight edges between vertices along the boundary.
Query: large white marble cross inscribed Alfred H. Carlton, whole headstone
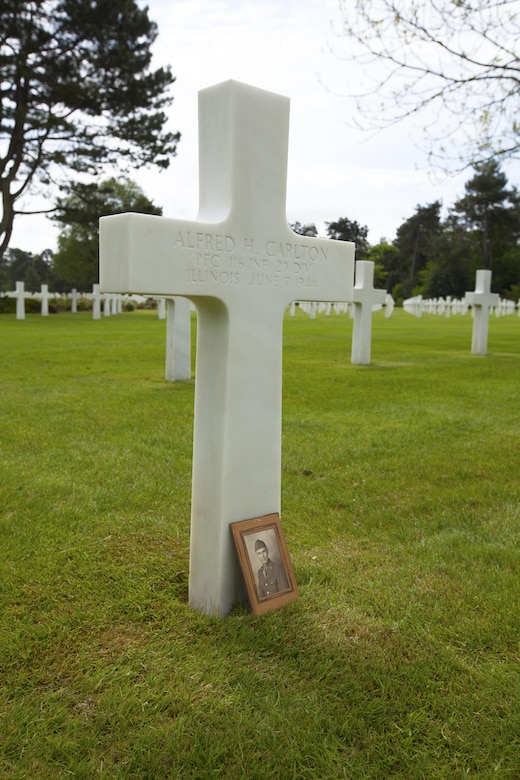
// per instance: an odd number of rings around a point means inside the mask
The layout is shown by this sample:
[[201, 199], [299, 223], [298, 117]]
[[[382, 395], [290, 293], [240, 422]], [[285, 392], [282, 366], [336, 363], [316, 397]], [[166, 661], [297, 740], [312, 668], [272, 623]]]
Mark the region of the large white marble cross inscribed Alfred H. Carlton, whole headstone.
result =
[[352, 295], [354, 245], [288, 226], [288, 131], [281, 95], [236, 81], [202, 90], [197, 219], [100, 222], [104, 291], [197, 308], [189, 602], [208, 614], [243, 592], [229, 524], [280, 511], [284, 311]]

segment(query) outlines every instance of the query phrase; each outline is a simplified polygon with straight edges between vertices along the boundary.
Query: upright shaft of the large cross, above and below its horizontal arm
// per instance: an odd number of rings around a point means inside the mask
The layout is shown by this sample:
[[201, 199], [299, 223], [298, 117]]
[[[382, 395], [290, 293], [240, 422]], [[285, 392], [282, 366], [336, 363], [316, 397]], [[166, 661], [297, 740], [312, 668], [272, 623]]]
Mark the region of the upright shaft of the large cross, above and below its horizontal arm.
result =
[[[228, 220], [241, 235], [266, 231], [266, 238], [287, 229], [288, 128], [289, 101], [282, 96], [236, 83], [200, 93], [200, 221]], [[244, 177], [245, 186], [237, 188]], [[251, 239], [242, 248], [254, 258], [259, 246]], [[262, 298], [247, 301], [244, 293], [241, 297], [243, 304], [231, 307], [194, 299], [198, 342], [190, 604], [221, 615], [242, 596], [229, 523], [280, 511], [281, 345], [287, 301], [276, 305]], [[208, 560], [214, 565], [208, 566]], [[215, 593], [219, 603], [212, 603]]]

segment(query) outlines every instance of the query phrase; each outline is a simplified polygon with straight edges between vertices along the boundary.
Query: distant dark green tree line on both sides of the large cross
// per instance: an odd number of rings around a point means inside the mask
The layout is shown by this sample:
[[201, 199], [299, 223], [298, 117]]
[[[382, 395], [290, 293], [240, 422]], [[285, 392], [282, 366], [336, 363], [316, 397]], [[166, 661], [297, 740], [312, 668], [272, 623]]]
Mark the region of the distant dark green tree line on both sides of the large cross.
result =
[[[341, 217], [326, 222], [328, 238], [353, 241], [357, 260], [372, 260], [375, 283], [396, 302], [411, 295], [461, 297], [473, 289], [475, 271], [493, 272], [493, 291], [520, 297], [520, 196], [498, 163], [476, 166], [463, 197], [441, 216], [441, 202], [418, 205], [397, 229], [393, 241], [368, 242], [368, 228]], [[99, 185], [71, 185], [58, 201], [53, 219], [61, 226], [58, 250], [33, 255], [8, 249], [0, 285], [12, 290], [24, 281], [35, 292], [42, 283], [57, 292], [87, 291], [98, 281], [98, 220], [106, 214], [137, 211], [161, 214], [130, 179]], [[317, 236], [314, 224], [296, 222], [300, 235]]]

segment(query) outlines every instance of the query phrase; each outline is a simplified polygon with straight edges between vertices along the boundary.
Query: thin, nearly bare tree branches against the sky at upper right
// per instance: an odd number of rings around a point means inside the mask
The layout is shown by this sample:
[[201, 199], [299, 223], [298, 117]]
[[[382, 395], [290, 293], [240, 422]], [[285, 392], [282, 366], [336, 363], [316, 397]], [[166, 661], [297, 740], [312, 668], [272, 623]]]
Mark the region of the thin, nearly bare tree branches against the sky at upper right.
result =
[[[358, 122], [423, 117], [433, 160], [459, 169], [520, 156], [518, 0], [342, 0]], [[356, 73], [356, 78], [359, 73]]]

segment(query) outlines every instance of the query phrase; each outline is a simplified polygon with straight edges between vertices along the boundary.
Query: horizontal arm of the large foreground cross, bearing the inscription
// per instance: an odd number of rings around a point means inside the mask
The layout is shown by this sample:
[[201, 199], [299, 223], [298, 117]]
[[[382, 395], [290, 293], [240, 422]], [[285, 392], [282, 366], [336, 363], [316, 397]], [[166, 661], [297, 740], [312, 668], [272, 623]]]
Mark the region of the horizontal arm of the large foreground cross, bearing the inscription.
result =
[[352, 300], [354, 245], [309, 238], [288, 225], [244, 234], [230, 221], [202, 223], [145, 214], [100, 220], [103, 292], [142, 295]]

